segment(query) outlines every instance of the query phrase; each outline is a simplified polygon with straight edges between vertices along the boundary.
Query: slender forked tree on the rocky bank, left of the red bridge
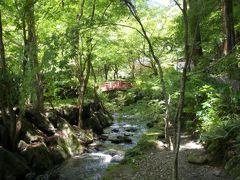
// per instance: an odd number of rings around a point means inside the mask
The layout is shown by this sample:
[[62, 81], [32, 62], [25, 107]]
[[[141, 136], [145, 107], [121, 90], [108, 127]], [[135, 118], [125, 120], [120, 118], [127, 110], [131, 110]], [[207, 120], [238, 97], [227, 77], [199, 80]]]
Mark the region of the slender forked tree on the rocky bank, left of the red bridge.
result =
[[[83, 127], [83, 105], [84, 105], [84, 95], [87, 88], [88, 80], [90, 77], [91, 72], [91, 61], [92, 61], [92, 51], [93, 51], [93, 44], [92, 44], [92, 32], [91, 27], [93, 26], [95, 10], [96, 10], [96, 0], [93, 1], [91, 6], [91, 15], [90, 15], [90, 22], [88, 27], [90, 30], [86, 34], [80, 33], [80, 27], [82, 23], [82, 18], [84, 15], [84, 7], [85, 7], [85, 0], [80, 1], [80, 11], [77, 15], [77, 22], [76, 26], [73, 28], [75, 41], [74, 45], [74, 60], [76, 65], [76, 77], [79, 81], [79, 88], [78, 88], [78, 101], [79, 101], [79, 118], [78, 118], [78, 126], [80, 128]], [[83, 45], [85, 43], [85, 46]], [[81, 45], [81, 49], [79, 47]]]

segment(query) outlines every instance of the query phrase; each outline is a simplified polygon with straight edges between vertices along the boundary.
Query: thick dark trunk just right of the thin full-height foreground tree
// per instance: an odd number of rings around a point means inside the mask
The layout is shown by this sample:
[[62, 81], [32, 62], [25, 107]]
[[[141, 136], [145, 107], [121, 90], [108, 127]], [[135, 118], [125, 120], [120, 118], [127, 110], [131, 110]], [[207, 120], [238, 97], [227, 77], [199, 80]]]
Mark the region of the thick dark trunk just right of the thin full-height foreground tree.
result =
[[190, 25], [190, 38], [191, 38], [191, 58], [194, 65], [196, 66], [199, 60], [199, 57], [203, 55], [202, 51], [202, 38], [200, 33], [200, 16], [199, 16], [199, 0], [190, 0], [189, 1], [189, 25]]

